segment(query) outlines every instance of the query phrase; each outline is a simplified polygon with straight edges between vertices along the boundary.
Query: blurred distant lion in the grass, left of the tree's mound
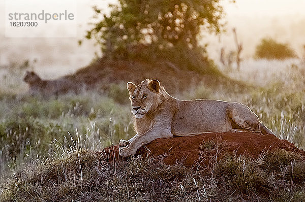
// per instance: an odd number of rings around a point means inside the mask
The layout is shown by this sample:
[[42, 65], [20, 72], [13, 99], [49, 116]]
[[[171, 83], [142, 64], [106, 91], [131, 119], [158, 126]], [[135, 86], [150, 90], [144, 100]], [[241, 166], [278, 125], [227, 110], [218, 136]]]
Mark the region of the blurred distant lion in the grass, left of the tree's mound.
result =
[[35, 72], [26, 71], [23, 81], [29, 86], [29, 94], [42, 95], [48, 97], [50, 95], [58, 96], [68, 92], [78, 93], [79, 86], [77, 83], [67, 79], [43, 80]]

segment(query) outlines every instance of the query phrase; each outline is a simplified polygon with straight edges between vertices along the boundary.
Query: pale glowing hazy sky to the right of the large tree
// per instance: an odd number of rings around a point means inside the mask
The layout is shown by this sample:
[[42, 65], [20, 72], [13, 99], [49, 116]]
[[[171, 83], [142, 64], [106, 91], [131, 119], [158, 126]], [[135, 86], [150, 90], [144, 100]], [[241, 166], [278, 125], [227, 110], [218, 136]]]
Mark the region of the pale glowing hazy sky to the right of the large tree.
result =
[[[242, 56], [252, 57], [262, 38], [270, 37], [287, 43], [301, 56], [305, 44], [305, 0], [236, 0], [225, 1], [224, 10], [228, 32], [221, 40], [207, 40], [210, 55], [219, 55], [219, 47], [234, 50], [231, 28], [235, 27]], [[214, 53], [213, 53], [214, 52]]]

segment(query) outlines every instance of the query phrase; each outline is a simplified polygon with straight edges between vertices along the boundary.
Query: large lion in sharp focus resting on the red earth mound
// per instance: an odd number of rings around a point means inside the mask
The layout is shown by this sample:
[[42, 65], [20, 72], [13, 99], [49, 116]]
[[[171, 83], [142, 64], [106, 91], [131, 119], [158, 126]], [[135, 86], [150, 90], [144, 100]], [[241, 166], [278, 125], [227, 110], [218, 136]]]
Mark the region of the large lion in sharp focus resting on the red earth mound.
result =
[[119, 155], [133, 156], [158, 138], [187, 137], [206, 132], [274, 134], [249, 107], [212, 99], [180, 100], [169, 95], [158, 80], [127, 83], [136, 135], [120, 140]]

